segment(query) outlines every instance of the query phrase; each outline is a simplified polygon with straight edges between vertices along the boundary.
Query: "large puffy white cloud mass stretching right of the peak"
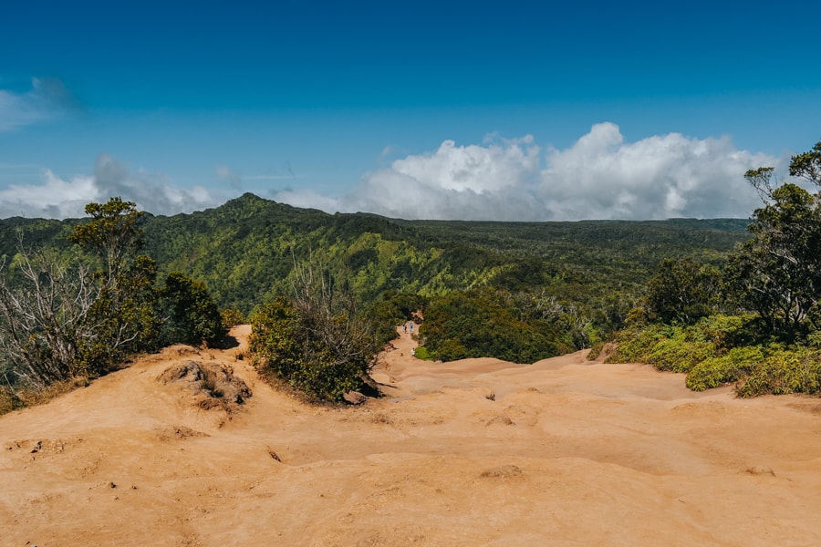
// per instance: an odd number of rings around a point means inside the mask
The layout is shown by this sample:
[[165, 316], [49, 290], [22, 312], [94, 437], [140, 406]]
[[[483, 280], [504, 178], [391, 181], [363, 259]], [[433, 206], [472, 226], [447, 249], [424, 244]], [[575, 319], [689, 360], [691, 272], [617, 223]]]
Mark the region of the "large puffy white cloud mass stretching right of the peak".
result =
[[743, 173], [777, 163], [736, 150], [728, 138], [670, 133], [629, 143], [618, 126], [601, 123], [570, 148], [544, 153], [530, 136], [482, 146], [446, 140], [367, 174], [342, 198], [280, 192], [275, 199], [406, 219], [743, 218], [760, 204]]

